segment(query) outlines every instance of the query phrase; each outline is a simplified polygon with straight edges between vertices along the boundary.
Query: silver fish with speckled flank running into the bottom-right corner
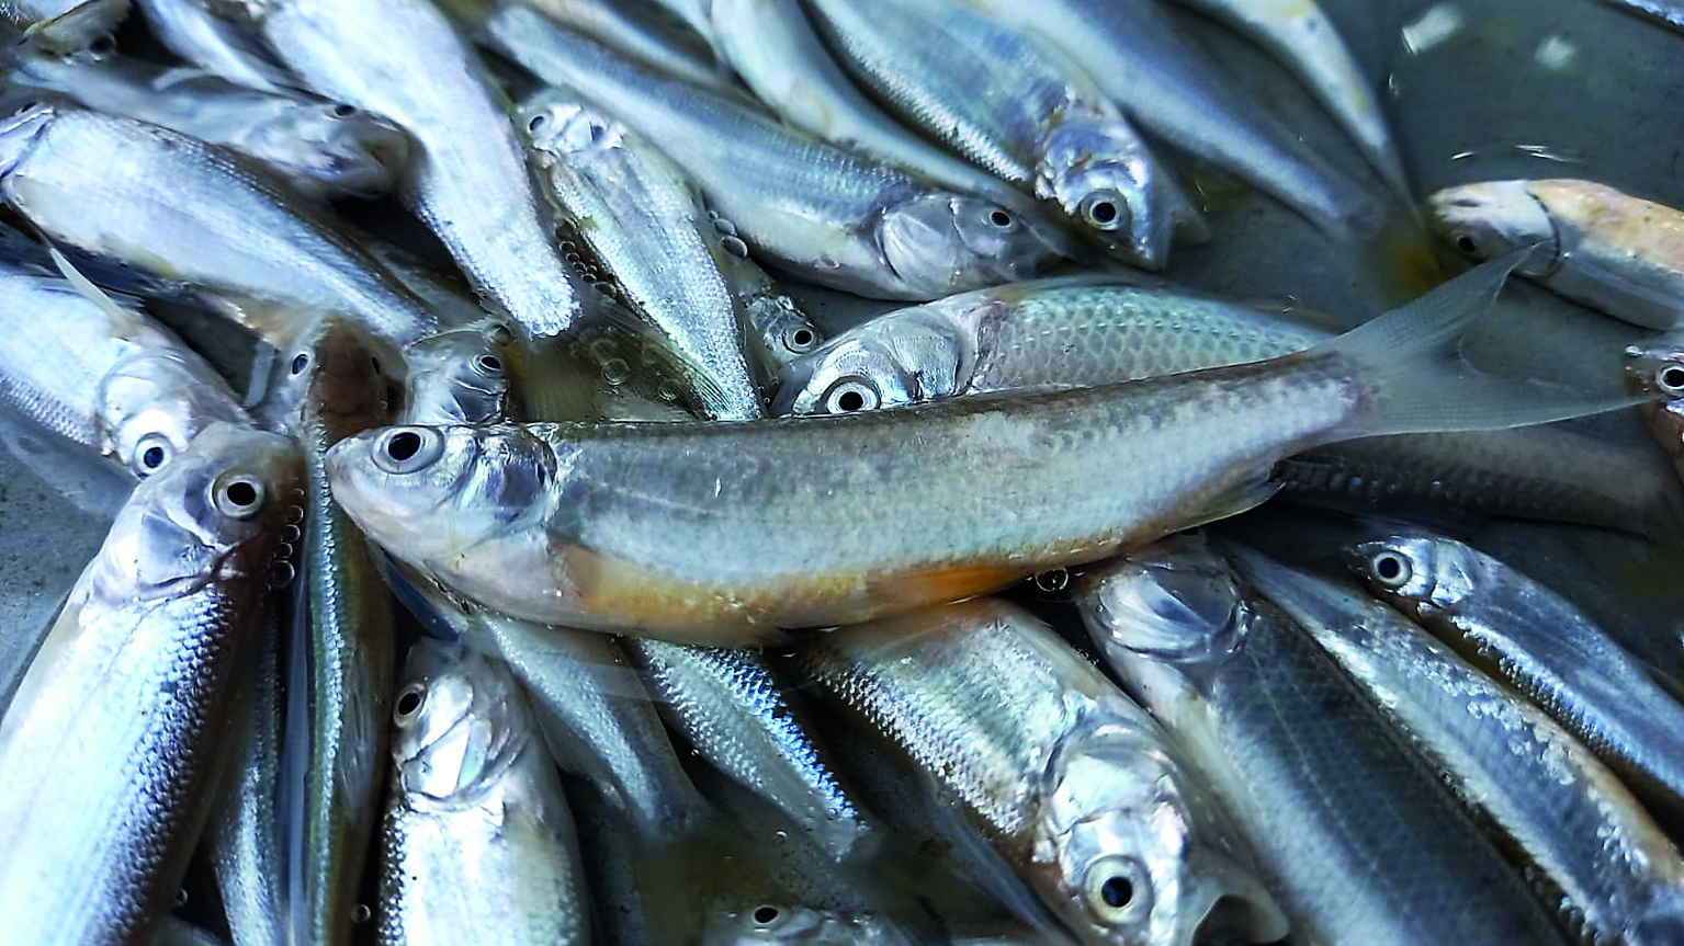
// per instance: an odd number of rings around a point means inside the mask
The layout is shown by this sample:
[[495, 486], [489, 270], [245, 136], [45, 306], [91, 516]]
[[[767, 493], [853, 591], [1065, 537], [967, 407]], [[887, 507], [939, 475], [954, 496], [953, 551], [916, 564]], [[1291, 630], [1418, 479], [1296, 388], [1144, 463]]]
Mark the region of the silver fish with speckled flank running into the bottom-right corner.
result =
[[1349, 582], [1250, 549], [1236, 549], [1234, 561], [1398, 724], [1495, 840], [1521, 852], [1541, 902], [1568, 933], [1633, 946], [1684, 934], [1684, 858], [1590, 749]]

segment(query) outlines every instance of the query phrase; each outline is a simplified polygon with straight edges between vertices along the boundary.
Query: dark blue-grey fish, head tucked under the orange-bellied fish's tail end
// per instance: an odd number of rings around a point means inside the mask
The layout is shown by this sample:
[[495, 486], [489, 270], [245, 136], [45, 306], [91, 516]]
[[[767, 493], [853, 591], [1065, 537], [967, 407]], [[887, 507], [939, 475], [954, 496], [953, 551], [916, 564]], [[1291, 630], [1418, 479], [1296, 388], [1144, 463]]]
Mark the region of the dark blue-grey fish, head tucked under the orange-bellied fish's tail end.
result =
[[1403, 736], [1202, 534], [1076, 587], [1100, 658], [1238, 820], [1295, 941], [1566, 943]]

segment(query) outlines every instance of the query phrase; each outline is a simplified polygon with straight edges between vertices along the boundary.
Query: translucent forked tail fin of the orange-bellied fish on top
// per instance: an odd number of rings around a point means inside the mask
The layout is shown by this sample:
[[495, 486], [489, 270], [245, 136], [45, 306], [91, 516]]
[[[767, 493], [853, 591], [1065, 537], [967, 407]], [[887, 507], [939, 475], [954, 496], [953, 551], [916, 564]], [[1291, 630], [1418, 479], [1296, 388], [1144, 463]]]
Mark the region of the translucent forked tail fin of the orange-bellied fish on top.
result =
[[1458, 355], [1462, 335], [1482, 316], [1532, 247], [1492, 259], [1425, 296], [1372, 318], [1310, 355], [1346, 360], [1366, 387], [1344, 438], [1430, 431], [1494, 431], [1601, 414], [1645, 401], [1534, 379], [1475, 370]]

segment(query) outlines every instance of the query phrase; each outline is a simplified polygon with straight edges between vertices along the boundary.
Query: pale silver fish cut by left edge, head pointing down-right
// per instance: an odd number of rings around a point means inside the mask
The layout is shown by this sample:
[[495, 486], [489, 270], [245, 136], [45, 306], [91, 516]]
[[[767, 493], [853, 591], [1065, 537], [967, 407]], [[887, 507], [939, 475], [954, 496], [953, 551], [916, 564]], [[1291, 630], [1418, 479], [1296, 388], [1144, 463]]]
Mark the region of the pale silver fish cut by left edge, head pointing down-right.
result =
[[0, 401], [135, 476], [210, 424], [251, 426], [222, 375], [131, 298], [0, 266]]

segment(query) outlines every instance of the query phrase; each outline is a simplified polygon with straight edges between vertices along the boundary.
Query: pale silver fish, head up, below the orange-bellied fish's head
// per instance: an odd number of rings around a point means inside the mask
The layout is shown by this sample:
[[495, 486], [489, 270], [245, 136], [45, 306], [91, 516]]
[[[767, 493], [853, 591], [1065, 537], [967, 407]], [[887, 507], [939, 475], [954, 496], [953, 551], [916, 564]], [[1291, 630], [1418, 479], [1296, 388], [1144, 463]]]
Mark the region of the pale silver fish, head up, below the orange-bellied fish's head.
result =
[[382, 944], [589, 941], [573, 813], [507, 667], [421, 640], [392, 699]]

